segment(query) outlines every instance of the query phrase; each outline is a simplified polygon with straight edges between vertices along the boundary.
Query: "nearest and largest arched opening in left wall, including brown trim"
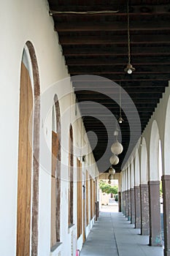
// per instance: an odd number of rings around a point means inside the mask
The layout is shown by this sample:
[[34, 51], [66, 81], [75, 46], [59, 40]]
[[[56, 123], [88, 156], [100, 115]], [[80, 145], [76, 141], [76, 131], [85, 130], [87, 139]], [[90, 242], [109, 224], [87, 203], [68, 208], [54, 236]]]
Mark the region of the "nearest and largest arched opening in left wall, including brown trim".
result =
[[[16, 255], [37, 255], [39, 208], [39, 73], [26, 42], [20, 69]], [[34, 154], [33, 154], [34, 152]], [[31, 221], [32, 218], [32, 221]]]

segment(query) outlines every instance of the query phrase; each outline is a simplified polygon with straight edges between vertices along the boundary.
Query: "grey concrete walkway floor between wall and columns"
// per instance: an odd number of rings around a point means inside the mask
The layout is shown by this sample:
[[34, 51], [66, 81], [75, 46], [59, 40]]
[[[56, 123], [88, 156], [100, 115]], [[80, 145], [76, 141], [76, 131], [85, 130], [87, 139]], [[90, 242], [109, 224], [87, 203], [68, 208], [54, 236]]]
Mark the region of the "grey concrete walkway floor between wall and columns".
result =
[[148, 246], [149, 237], [117, 212], [115, 206], [102, 206], [80, 252], [81, 256], [163, 256], [163, 247]]

